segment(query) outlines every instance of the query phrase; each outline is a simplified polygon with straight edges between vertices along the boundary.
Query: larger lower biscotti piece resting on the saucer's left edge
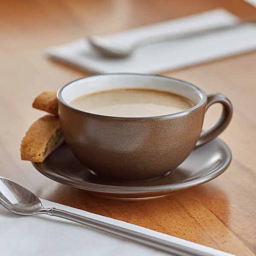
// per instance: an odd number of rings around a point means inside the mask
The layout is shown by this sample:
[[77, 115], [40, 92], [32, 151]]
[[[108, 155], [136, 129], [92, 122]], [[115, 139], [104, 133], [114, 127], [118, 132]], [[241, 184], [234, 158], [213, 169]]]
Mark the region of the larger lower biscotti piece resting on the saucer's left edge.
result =
[[43, 116], [35, 121], [20, 144], [21, 160], [41, 163], [64, 141], [56, 116]]

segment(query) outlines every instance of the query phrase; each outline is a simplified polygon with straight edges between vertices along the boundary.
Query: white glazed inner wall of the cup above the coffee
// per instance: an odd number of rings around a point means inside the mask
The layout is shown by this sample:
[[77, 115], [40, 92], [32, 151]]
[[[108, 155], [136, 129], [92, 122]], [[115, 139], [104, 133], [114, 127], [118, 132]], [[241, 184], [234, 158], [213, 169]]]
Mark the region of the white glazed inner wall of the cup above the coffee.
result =
[[206, 94], [195, 85], [165, 76], [143, 74], [102, 74], [88, 76], [67, 84], [58, 92], [58, 98], [69, 104], [73, 99], [84, 94], [118, 88], [143, 88], [172, 92], [184, 96], [195, 105], [206, 100]]

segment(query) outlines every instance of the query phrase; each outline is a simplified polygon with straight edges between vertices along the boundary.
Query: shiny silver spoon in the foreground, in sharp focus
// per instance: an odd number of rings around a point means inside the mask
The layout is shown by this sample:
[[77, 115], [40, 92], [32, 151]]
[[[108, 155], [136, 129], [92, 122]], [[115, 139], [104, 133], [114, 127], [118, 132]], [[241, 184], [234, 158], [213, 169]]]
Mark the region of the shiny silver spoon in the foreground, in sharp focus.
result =
[[133, 230], [128, 230], [123, 227], [118, 227], [113, 224], [108, 224], [103, 221], [98, 221], [92, 218], [81, 216], [75, 213], [67, 212], [56, 208], [44, 208], [40, 199], [23, 186], [0, 176], [0, 204], [11, 212], [21, 215], [48, 214], [84, 224], [88, 227], [93, 227], [98, 230], [111, 233], [131, 241], [135, 241], [150, 247], [163, 250], [173, 255], [182, 256], [212, 256], [194, 248], [184, 245], [175, 244], [170, 241], [165, 241], [152, 236], [145, 235]]

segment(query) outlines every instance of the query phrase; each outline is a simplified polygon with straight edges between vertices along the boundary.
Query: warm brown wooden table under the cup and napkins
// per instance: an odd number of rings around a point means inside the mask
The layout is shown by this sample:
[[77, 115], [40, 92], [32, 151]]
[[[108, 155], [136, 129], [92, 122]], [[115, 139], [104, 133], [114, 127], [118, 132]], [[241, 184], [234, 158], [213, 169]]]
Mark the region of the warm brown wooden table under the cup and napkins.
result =
[[[44, 50], [86, 34], [108, 34], [216, 7], [240, 17], [256, 15], [242, 0], [27, 0], [0, 2], [0, 175], [50, 201], [127, 221], [241, 256], [256, 253], [256, 52], [165, 73], [207, 93], [227, 95], [234, 106], [221, 138], [233, 161], [215, 180], [163, 198], [120, 201], [61, 185], [20, 160], [20, 142], [43, 112], [31, 103], [88, 73], [49, 61]], [[205, 127], [220, 114], [207, 113]]]

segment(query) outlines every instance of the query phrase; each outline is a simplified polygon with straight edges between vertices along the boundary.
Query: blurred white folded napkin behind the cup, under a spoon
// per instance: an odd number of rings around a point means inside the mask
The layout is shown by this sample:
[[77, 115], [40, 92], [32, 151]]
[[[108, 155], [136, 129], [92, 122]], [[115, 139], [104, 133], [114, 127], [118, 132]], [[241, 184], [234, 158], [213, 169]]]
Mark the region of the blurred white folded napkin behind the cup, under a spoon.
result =
[[[131, 29], [105, 36], [125, 44], [129, 38], [143, 33], [169, 29], [184, 32], [189, 29], [209, 28], [233, 24], [236, 16], [224, 9], [215, 9], [188, 17], [169, 20], [150, 26]], [[148, 44], [138, 48], [128, 58], [106, 58], [99, 55], [86, 38], [50, 47], [49, 57], [79, 67], [93, 73], [136, 72], [157, 73], [175, 68], [186, 67], [233, 54], [256, 49], [256, 25], [243, 24], [232, 29], [211, 32], [190, 38]]]

